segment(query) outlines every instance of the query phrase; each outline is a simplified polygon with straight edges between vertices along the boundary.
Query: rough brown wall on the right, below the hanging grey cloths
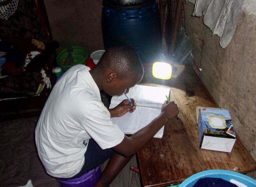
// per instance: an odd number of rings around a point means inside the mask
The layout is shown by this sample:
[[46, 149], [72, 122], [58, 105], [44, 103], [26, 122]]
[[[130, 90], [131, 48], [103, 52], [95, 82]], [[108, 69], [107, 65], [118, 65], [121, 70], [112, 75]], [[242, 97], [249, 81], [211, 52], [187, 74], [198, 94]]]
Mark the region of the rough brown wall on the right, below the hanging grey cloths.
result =
[[186, 4], [185, 24], [195, 61], [203, 69], [196, 71], [217, 104], [230, 111], [240, 141], [256, 159], [256, 16], [242, 9], [231, 42], [221, 49], [203, 17], [191, 16], [193, 8]]

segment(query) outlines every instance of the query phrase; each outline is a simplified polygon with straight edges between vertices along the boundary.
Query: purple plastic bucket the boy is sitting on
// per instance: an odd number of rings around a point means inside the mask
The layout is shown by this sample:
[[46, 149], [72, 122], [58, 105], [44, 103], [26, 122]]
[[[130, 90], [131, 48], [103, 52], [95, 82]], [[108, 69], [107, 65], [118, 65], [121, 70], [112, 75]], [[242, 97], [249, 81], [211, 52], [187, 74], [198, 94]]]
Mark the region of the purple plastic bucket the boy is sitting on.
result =
[[67, 181], [59, 180], [61, 187], [93, 187], [101, 176], [100, 166], [96, 169], [89, 171], [83, 176]]

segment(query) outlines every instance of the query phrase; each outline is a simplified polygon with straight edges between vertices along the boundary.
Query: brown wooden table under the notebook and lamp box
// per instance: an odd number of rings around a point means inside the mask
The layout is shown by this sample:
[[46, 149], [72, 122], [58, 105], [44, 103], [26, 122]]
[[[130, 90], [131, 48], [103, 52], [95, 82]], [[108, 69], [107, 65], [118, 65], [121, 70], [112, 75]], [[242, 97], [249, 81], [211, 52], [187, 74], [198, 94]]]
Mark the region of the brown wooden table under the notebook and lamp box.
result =
[[[143, 186], [178, 184], [193, 174], [210, 169], [246, 173], [256, 170], [256, 163], [237, 138], [231, 153], [199, 148], [196, 107], [218, 107], [191, 67], [168, 81], [152, 77], [145, 68], [140, 84], [167, 85], [170, 98], [177, 103], [179, 120], [165, 124], [163, 138], [153, 138], [137, 153]], [[151, 84], [153, 83], [153, 84]]]

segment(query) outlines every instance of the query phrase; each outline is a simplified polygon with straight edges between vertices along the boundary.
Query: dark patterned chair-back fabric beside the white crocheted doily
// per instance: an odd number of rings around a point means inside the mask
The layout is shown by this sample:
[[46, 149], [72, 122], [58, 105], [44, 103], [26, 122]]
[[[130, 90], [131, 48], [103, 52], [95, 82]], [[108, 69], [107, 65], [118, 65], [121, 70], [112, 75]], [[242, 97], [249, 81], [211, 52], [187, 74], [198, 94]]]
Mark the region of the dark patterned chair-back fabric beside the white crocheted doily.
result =
[[46, 43], [46, 35], [33, 0], [19, 0], [15, 13], [0, 19], [0, 38], [34, 38]]

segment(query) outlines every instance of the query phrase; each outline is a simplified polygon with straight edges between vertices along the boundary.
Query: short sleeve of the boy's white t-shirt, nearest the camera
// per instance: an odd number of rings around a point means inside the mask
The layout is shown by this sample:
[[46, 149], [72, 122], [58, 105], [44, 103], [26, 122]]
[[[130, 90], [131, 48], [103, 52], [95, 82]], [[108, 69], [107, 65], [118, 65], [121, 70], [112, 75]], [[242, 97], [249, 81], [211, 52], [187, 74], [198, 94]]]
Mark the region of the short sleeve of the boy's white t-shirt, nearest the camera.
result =
[[87, 133], [102, 149], [111, 148], [121, 143], [124, 133], [110, 120], [110, 113], [97, 97], [86, 99], [81, 107], [79, 120]]

